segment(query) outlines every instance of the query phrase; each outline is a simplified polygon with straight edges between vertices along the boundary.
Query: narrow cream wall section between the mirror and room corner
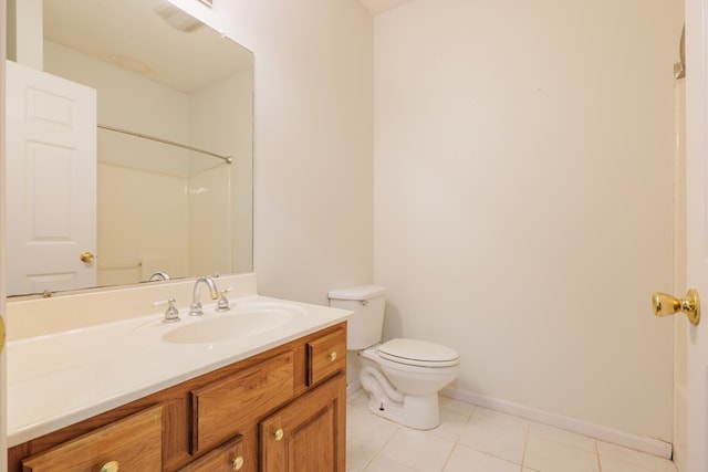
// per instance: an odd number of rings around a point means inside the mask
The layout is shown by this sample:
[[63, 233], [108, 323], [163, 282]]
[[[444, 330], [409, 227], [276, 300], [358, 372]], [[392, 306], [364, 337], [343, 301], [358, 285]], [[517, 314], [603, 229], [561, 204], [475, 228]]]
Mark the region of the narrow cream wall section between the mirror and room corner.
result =
[[326, 304], [373, 279], [373, 19], [356, 0], [171, 0], [256, 56], [254, 271]]

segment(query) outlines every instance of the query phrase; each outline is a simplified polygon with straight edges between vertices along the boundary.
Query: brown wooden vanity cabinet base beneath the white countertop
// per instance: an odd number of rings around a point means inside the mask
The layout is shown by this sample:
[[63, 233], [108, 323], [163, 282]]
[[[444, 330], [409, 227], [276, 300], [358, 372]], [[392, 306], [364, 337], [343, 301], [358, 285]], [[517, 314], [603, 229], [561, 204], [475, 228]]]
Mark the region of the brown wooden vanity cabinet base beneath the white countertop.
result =
[[344, 471], [345, 371], [341, 323], [10, 448], [8, 470]]

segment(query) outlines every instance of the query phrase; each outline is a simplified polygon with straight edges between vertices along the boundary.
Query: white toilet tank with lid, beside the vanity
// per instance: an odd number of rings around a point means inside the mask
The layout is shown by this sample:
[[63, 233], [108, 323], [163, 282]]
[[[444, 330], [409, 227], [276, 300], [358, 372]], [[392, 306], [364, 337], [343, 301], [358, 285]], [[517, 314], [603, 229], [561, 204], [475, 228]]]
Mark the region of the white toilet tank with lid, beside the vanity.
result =
[[356, 285], [333, 290], [330, 306], [354, 312], [347, 318], [347, 349], [365, 349], [381, 342], [384, 329], [386, 290], [378, 285]]

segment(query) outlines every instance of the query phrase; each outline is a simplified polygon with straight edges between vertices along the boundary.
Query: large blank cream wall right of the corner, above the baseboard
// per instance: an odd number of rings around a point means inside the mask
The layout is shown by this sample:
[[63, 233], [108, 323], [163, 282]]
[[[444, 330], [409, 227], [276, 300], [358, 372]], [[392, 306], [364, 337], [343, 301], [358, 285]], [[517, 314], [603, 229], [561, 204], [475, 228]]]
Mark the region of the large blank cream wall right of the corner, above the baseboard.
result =
[[375, 22], [386, 335], [455, 387], [670, 441], [680, 2], [416, 0]]

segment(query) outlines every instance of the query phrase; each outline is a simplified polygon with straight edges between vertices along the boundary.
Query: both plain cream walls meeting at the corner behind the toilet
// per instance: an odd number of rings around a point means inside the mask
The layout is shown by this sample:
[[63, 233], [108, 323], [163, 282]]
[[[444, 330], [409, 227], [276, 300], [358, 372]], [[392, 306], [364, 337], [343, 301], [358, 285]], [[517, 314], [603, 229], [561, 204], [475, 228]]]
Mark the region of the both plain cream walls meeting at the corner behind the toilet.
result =
[[648, 300], [671, 290], [678, 2], [378, 17], [373, 189], [355, 1], [173, 1], [256, 54], [263, 293], [368, 282], [375, 204], [388, 336], [458, 348], [459, 389], [670, 440], [671, 322]]

